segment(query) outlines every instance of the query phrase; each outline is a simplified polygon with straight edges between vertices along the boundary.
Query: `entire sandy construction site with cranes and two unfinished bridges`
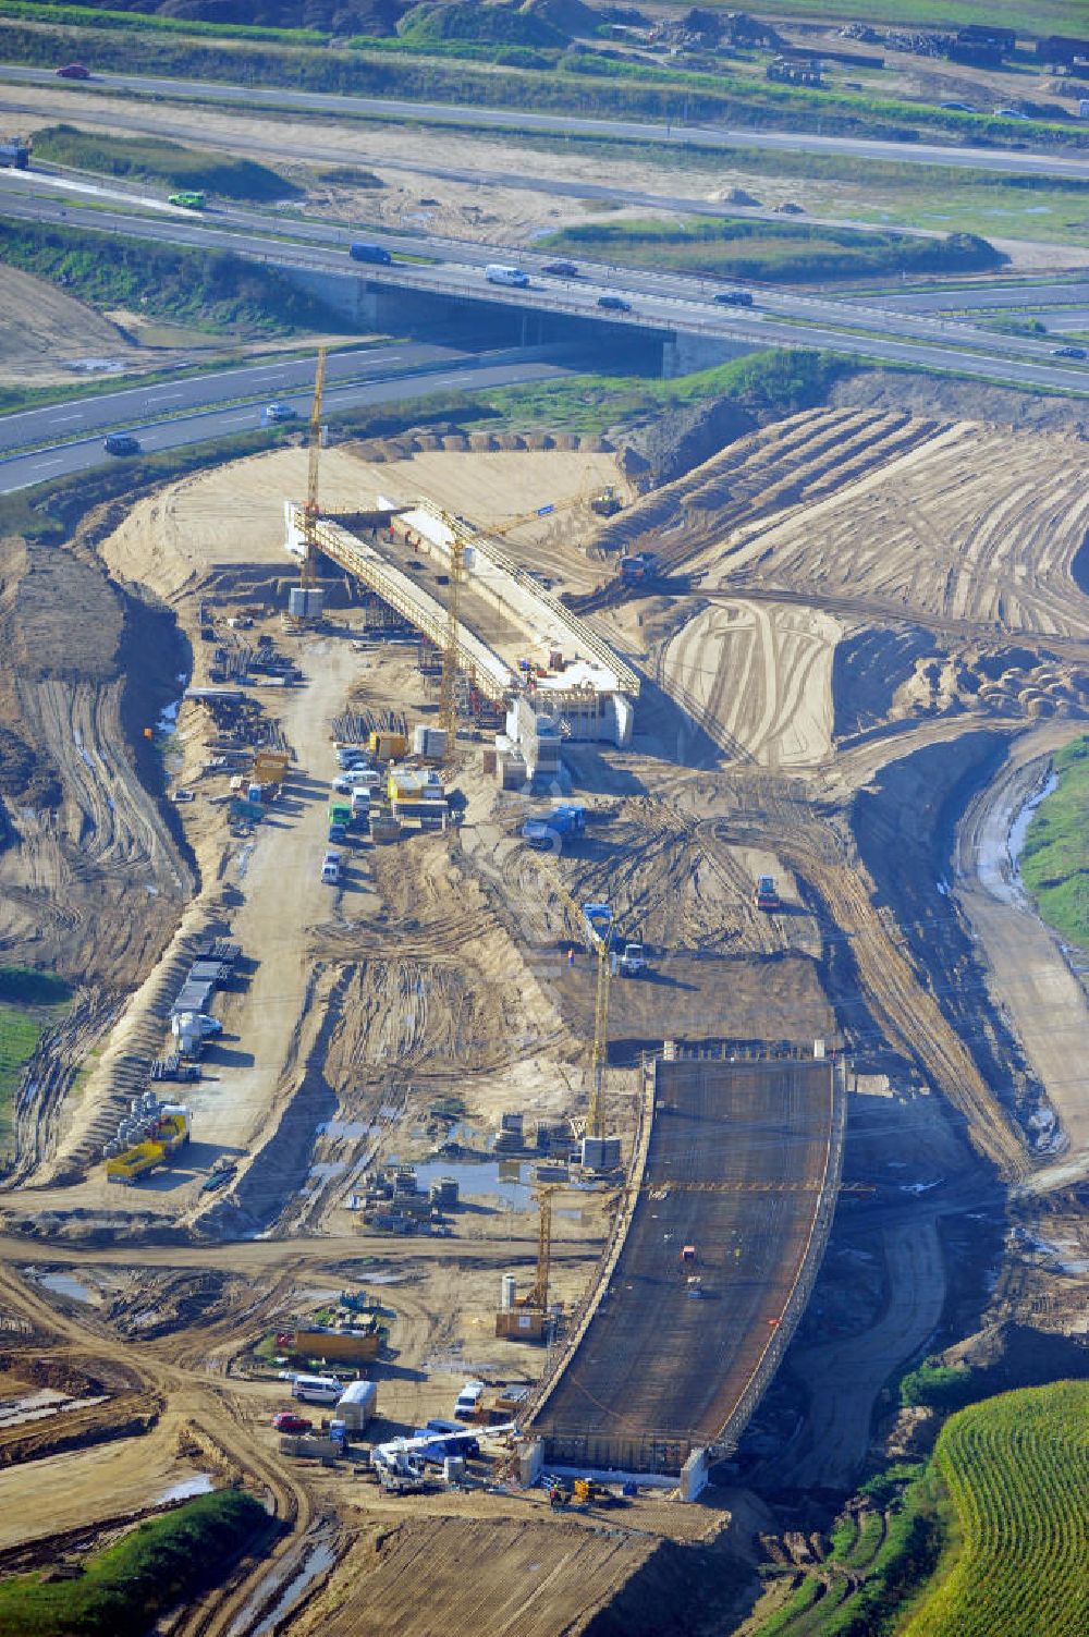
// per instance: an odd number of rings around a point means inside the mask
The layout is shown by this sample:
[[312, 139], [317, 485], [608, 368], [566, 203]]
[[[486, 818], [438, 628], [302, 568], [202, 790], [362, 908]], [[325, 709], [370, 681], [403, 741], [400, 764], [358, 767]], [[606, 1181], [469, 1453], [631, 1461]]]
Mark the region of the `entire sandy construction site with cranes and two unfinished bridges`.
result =
[[[326, 445], [323, 370], [293, 445], [3, 547], [0, 936], [74, 1000], [0, 1193], [0, 1563], [236, 1485], [277, 1529], [185, 1637], [734, 1629], [947, 1216], [1087, 1175], [979, 840], [1089, 712], [1084, 444], [848, 383], [655, 488]], [[989, 1288], [1076, 1329], [1038, 1257]]]

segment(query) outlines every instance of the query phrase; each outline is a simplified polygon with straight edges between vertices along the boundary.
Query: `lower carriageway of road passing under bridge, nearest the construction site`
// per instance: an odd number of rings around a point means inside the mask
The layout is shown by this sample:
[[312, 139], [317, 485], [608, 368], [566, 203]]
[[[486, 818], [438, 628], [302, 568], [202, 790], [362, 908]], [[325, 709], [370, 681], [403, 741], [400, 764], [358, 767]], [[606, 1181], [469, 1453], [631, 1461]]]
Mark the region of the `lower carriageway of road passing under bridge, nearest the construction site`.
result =
[[[490, 362], [488, 355], [467, 357], [462, 363], [434, 368], [432, 372], [414, 375], [388, 375], [375, 380], [357, 381], [347, 386], [326, 388], [326, 409], [354, 409], [362, 404], [403, 403], [406, 398], [418, 398], [424, 393], [437, 391], [480, 391], [485, 386], [514, 386], [519, 381], [544, 381], [562, 377], [565, 372], [532, 354], [526, 354], [521, 362], [511, 362], [509, 355], [501, 355], [503, 362]], [[332, 362], [332, 360], [329, 360]], [[313, 381], [313, 362], [310, 362], [310, 378]], [[215, 380], [208, 377], [206, 380]], [[121, 396], [121, 395], [118, 395]], [[126, 395], [128, 396], [128, 395]], [[234, 391], [231, 391], [234, 396]], [[303, 391], [288, 391], [283, 399], [300, 411], [300, 417], [310, 408], [311, 386]], [[93, 399], [90, 399], [93, 403]], [[57, 406], [61, 411], [74, 406]], [[56, 411], [41, 411], [43, 414]], [[3, 422], [0, 421], [0, 426]], [[228, 409], [195, 409], [162, 421], [128, 422], [138, 432], [139, 440], [149, 453], [160, 449], [180, 449], [185, 444], [198, 444], [208, 437], [224, 437], [228, 432], [251, 432], [259, 426], [259, 414], [254, 404], [233, 404]], [[90, 471], [113, 457], [105, 455], [100, 437], [61, 434], [52, 444], [25, 455], [8, 455], [0, 458], [0, 494], [11, 494], [15, 489], [31, 488], [49, 478], [70, 476], [75, 471]]]

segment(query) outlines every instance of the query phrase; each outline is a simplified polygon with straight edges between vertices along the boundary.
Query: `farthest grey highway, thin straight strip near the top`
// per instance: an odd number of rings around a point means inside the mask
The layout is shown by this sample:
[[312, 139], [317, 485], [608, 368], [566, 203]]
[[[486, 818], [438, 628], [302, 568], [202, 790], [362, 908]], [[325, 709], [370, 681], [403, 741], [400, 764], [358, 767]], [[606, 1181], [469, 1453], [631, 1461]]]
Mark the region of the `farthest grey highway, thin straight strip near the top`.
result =
[[[51, 69], [0, 67], [0, 79], [13, 83], [64, 87]], [[658, 124], [640, 120], [585, 120], [575, 115], [535, 113], [526, 108], [472, 108], [457, 103], [400, 101], [385, 97], [341, 97], [329, 92], [295, 92], [260, 85], [229, 85], [213, 80], [170, 80], [141, 74], [100, 74], [72, 82], [80, 92], [129, 92], [175, 101], [239, 103], [247, 111], [290, 110], [326, 118], [422, 120], [427, 124], [459, 124], [470, 129], [555, 131], [558, 136], [596, 136], [606, 141], [665, 142], [678, 147], [763, 147], [793, 154], [850, 154], [860, 159], [891, 159], [897, 164], [958, 165], [974, 170], [1005, 170], [1019, 175], [1073, 177], [1089, 180], [1089, 156], [1042, 152], [1001, 152], [989, 147], [953, 147], [933, 142], [883, 142], [871, 138], [816, 136], [809, 131], [748, 131], [704, 124]]]

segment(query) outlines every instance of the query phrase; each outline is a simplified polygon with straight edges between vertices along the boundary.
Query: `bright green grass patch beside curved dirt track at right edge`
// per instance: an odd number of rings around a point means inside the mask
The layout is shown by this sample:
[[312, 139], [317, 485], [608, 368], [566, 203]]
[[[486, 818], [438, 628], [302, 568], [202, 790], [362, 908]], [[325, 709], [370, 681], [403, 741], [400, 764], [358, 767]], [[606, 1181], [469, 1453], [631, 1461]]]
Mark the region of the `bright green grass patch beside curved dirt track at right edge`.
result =
[[1058, 786], [1028, 825], [1020, 876], [1043, 920], [1089, 949], [1089, 735], [1058, 751], [1055, 773]]

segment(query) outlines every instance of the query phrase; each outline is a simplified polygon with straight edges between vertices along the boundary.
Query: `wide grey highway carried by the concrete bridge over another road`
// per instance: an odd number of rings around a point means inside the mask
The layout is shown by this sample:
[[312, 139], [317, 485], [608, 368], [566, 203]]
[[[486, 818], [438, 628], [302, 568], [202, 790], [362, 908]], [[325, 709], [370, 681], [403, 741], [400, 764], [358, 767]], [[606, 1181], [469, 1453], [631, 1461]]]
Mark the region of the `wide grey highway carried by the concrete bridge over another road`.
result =
[[[368, 231], [375, 242], [385, 242], [393, 255], [427, 257], [432, 265], [395, 264], [393, 267], [352, 264], [347, 244], [352, 234], [324, 223], [275, 221], [259, 211], [218, 210], [215, 216], [193, 214], [178, 221], [156, 214], [128, 214], [105, 206], [64, 205], [33, 193], [33, 177], [25, 172], [0, 172], [3, 211], [34, 221], [67, 221], [90, 231], [124, 232], [156, 242], [205, 246], [234, 250], [239, 255], [277, 265], [296, 265], [318, 272], [355, 272], [375, 285], [396, 285], [431, 295], [445, 295], [478, 303], [503, 303], [514, 309], [539, 309], [572, 318], [593, 318], [665, 332], [683, 332], [711, 340], [740, 342], [750, 347], [822, 347], [876, 362], [950, 370], [976, 375], [1002, 385], [1045, 386], [1074, 393], [1089, 391], [1089, 368], [1051, 359], [1046, 340], [1019, 336], [996, 336], [963, 322], [950, 322], [929, 314], [889, 311], [879, 304], [799, 295], [791, 290], [760, 290], [757, 304], [724, 308], [714, 301], [721, 283], [675, 272], [619, 268], [580, 260], [583, 277], [554, 278], [542, 273], [549, 257], [503, 246], [486, 246], [429, 236], [398, 237]], [[10, 177], [18, 177], [10, 182]], [[308, 242], [290, 242], [287, 234]], [[483, 267], [491, 260], [517, 264], [532, 275], [532, 288], [516, 290], [490, 285]], [[603, 313], [603, 295], [621, 293], [630, 301], [630, 313]]]

